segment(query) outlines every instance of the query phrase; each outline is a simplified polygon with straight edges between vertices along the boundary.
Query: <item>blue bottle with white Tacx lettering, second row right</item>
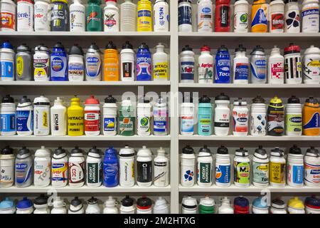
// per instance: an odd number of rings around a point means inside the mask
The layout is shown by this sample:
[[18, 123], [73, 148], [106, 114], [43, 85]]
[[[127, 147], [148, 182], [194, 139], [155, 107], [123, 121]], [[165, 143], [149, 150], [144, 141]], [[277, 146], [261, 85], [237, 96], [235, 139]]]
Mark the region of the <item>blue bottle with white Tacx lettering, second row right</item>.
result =
[[220, 46], [215, 56], [215, 83], [230, 83], [231, 68], [228, 48]]

